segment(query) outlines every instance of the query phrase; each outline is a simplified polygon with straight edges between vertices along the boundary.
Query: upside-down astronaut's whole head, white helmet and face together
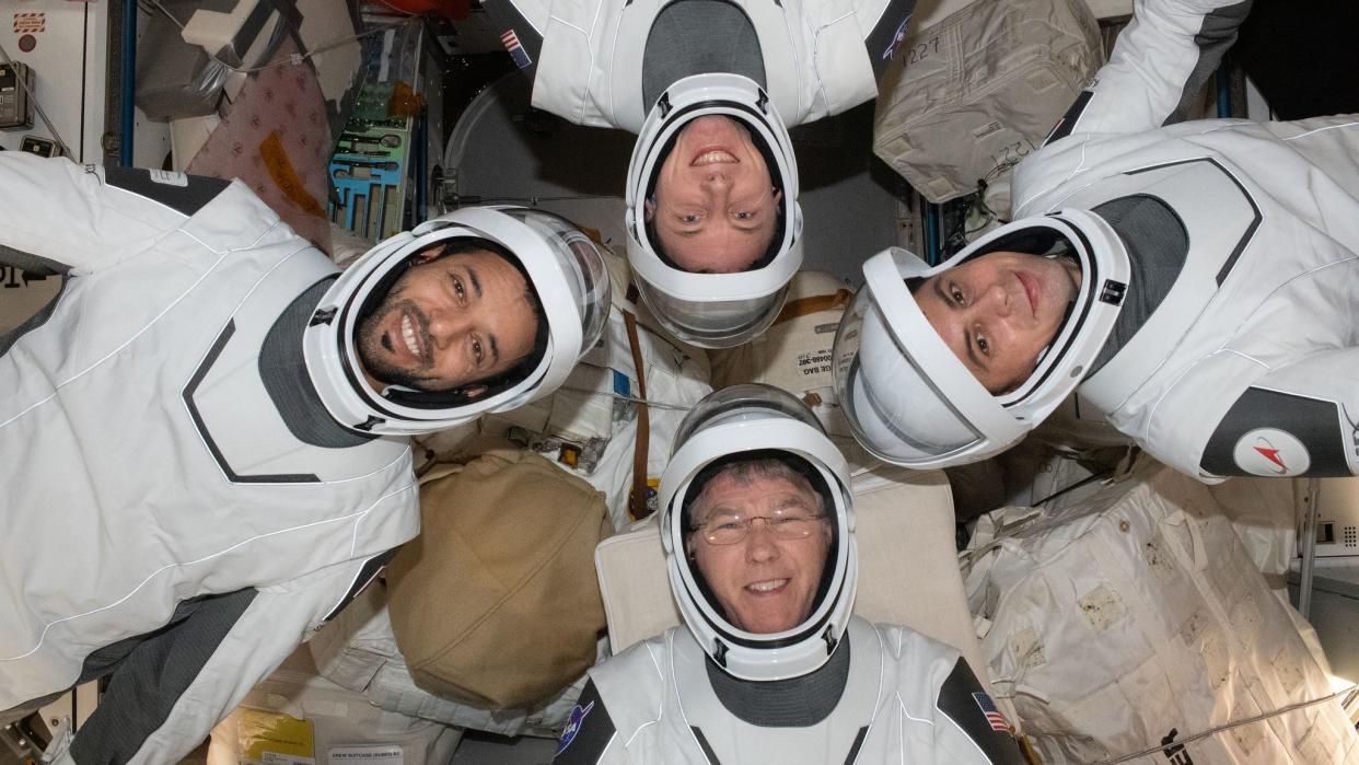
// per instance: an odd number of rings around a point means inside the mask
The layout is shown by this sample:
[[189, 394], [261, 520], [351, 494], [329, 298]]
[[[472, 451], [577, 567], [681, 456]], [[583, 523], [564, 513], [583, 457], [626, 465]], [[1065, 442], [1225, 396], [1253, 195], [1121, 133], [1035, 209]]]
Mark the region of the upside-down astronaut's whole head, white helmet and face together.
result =
[[[718, 202], [696, 200], [719, 177], [727, 207], [707, 209]], [[802, 211], [788, 130], [754, 82], [705, 73], [673, 84], [637, 137], [626, 204], [628, 264], [667, 332], [730, 348], [773, 323], [802, 265]]]

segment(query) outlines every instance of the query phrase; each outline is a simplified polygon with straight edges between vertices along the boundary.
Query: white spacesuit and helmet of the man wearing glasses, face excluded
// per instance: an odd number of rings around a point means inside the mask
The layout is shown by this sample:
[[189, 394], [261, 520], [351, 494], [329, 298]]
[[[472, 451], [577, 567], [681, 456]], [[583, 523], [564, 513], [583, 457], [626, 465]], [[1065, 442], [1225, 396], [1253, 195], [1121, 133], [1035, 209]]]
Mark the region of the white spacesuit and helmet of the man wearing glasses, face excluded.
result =
[[[554, 762], [1023, 762], [958, 651], [851, 616], [848, 470], [806, 406], [769, 386], [728, 387], [694, 408], [675, 446], [660, 486], [662, 533], [685, 626], [590, 670]], [[713, 462], [772, 450], [800, 465], [832, 510], [833, 541], [810, 616], [761, 635], [728, 622], [709, 595], [685, 554], [682, 505]]]

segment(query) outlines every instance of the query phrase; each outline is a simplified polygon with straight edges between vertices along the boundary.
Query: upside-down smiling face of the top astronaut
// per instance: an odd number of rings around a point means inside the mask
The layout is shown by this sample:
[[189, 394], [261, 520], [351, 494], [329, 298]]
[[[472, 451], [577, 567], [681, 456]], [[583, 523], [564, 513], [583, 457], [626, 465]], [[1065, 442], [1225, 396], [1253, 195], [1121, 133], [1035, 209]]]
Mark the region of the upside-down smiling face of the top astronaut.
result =
[[777, 227], [783, 192], [750, 132], [730, 117], [690, 121], [656, 178], [646, 216], [656, 245], [694, 273], [737, 273], [764, 255]]

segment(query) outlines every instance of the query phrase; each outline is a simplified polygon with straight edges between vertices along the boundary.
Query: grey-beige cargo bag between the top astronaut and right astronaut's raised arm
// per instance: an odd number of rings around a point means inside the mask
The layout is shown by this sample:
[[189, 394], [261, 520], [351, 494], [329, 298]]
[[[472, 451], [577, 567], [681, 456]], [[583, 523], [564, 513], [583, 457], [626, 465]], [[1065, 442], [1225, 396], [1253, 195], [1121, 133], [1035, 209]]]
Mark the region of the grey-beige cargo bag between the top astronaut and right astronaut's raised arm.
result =
[[931, 202], [976, 192], [978, 179], [993, 186], [1102, 60], [1083, 0], [977, 0], [901, 42], [881, 84], [872, 151]]

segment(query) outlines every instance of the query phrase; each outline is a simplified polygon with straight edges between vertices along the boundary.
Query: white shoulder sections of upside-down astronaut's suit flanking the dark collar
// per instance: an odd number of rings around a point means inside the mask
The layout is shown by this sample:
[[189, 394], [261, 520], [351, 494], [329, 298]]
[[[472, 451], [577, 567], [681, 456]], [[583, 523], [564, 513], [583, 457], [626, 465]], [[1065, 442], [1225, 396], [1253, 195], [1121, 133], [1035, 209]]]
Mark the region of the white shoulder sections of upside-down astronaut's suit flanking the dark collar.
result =
[[[580, 125], [640, 132], [641, 64], [656, 15], [675, 0], [512, 0], [542, 35], [533, 106]], [[754, 26], [765, 86], [784, 124], [878, 95], [864, 38], [886, 0], [733, 0]]]

